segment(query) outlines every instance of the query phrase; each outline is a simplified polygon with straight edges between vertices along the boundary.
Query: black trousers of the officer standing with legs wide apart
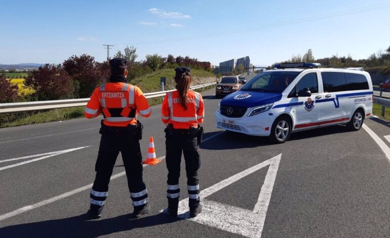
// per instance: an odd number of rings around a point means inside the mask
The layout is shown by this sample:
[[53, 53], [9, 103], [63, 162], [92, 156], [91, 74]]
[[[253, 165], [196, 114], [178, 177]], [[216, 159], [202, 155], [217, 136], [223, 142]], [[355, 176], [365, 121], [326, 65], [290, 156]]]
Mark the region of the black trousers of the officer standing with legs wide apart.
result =
[[133, 206], [148, 202], [145, 183], [142, 180], [142, 155], [139, 140], [133, 126], [102, 126], [99, 154], [96, 160], [96, 177], [91, 190], [91, 209], [103, 209], [108, 194], [108, 184], [119, 152], [122, 154]]

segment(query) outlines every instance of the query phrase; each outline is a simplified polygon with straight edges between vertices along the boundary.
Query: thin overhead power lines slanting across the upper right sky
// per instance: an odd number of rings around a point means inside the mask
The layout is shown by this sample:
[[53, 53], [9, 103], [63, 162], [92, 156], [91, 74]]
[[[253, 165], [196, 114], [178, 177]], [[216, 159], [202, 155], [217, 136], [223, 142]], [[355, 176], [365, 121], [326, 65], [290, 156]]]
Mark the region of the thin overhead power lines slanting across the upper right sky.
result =
[[349, 10], [344, 10], [344, 11], [339, 11], [339, 12], [321, 14], [321, 15], [317, 15], [317, 16], [313, 16], [313, 17], [299, 18], [299, 19], [283, 21], [283, 22], [278, 22], [278, 23], [271, 23], [271, 24], [267, 24], [267, 25], [253, 26], [253, 27], [248, 27], [248, 28], [244, 28], [244, 29], [221, 31], [221, 32], [216, 32], [216, 33], [192, 35], [192, 36], [185, 36], [185, 37], [178, 37], [178, 38], [171, 38], [171, 39], [162, 39], [162, 40], [150, 41], [150, 42], [139, 42], [139, 43], [133, 43], [132, 45], [158, 44], [158, 43], [187, 41], [187, 40], [191, 40], [191, 39], [193, 40], [193, 39], [221, 36], [221, 35], [226, 35], [226, 34], [242, 33], [242, 32], [253, 31], [253, 30], [276, 28], [276, 27], [281, 27], [281, 26], [300, 24], [300, 23], [305, 23], [305, 22], [310, 22], [310, 21], [318, 21], [318, 20], [324, 20], [324, 19], [329, 19], [329, 18], [334, 18], [334, 17], [347, 16], [347, 15], [352, 15], [352, 14], [357, 14], [357, 13], [380, 10], [380, 9], [388, 8], [388, 7], [390, 7], [390, 3], [370, 5], [370, 6], [366, 6], [366, 7], [362, 7], [362, 8], [349, 9]]

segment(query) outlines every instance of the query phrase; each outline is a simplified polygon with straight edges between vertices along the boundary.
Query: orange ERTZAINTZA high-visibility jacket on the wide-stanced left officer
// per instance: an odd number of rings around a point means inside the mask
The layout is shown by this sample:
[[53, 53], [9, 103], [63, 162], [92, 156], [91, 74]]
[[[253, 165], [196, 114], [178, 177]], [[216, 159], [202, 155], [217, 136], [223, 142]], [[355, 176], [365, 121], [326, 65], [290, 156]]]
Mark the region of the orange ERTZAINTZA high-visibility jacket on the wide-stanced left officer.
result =
[[84, 115], [94, 118], [103, 112], [103, 123], [111, 127], [136, 125], [138, 113], [149, 117], [151, 109], [142, 91], [126, 83], [107, 83], [97, 87], [87, 106]]

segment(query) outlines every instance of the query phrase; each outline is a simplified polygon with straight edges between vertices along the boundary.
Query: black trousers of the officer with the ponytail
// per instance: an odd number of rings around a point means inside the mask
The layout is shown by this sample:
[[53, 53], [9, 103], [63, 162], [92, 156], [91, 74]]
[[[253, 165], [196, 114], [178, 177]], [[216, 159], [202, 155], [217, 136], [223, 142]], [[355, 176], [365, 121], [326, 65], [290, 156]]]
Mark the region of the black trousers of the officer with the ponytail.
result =
[[179, 203], [180, 162], [183, 153], [187, 174], [188, 206], [190, 210], [196, 209], [200, 203], [198, 170], [201, 166], [197, 138], [191, 138], [188, 135], [188, 130], [173, 129], [172, 134], [167, 130], [165, 144], [165, 161], [168, 169], [168, 206], [177, 208]]

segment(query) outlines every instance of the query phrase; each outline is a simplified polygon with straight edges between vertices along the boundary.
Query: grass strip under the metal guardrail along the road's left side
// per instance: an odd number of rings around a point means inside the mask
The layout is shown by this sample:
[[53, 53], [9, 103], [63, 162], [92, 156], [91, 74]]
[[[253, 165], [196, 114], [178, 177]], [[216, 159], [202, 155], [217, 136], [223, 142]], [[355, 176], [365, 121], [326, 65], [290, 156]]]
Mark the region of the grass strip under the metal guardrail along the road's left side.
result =
[[[196, 91], [202, 92], [210, 88], [213, 88], [213, 86], [197, 89]], [[158, 105], [163, 102], [163, 97], [149, 98], [148, 102], [150, 106]], [[0, 128], [48, 123], [48, 122], [58, 122], [58, 121], [65, 121], [65, 120], [70, 120], [72, 118], [80, 118], [80, 117], [84, 117], [84, 106], [58, 108], [58, 109], [47, 110], [47, 111], [1, 113]]]

